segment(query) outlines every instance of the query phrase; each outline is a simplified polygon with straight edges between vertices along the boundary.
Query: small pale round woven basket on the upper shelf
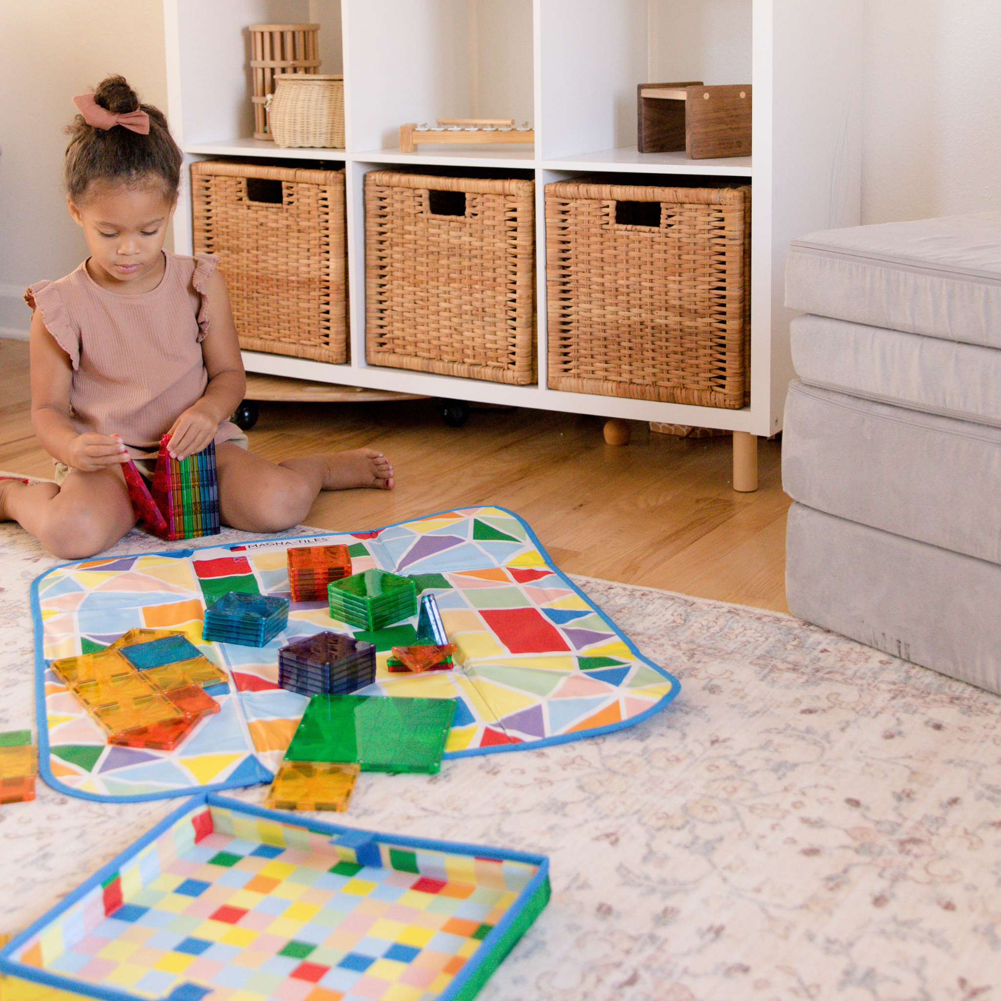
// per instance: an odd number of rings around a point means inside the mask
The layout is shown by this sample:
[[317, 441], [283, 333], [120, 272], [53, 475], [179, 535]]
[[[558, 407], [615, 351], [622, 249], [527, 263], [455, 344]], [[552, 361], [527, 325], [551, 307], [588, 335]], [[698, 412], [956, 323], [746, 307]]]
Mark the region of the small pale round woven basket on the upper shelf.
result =
[[275, 145], [344, 148], [344, 78], [282, 73], [267, 105]]

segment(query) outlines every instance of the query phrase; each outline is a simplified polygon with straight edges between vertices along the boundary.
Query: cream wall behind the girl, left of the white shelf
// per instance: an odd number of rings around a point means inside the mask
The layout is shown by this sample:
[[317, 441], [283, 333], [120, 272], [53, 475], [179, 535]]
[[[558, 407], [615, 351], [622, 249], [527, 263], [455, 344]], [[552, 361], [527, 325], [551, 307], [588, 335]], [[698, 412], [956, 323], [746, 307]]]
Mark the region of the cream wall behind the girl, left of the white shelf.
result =
[[0, 335], [23, 335], [25, 286], [86, 256], [62, 190], [72, 98], [121, 73], [166, 108], [162, 0], [0, 0]]

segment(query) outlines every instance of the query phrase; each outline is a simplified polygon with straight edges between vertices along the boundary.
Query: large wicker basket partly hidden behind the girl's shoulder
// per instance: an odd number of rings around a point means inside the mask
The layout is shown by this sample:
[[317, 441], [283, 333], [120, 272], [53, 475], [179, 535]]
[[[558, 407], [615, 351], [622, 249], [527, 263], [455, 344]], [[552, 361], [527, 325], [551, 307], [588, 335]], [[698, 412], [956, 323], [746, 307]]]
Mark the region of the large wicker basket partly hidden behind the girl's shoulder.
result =
[[240, 347], [347, 360], [344, 172], [191, 164], [196, 253], [219, 256]]

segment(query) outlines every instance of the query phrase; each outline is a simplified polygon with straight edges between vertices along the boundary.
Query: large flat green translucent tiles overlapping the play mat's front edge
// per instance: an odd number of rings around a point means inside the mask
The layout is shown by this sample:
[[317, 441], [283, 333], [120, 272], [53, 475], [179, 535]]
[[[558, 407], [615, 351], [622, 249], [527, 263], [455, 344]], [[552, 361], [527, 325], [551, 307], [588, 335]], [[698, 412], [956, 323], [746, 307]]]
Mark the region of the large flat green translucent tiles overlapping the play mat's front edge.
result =
[[285, 761], [357, 762], [362, 772], [441, 768], [454, 699], [316, 695], [309, 700]]

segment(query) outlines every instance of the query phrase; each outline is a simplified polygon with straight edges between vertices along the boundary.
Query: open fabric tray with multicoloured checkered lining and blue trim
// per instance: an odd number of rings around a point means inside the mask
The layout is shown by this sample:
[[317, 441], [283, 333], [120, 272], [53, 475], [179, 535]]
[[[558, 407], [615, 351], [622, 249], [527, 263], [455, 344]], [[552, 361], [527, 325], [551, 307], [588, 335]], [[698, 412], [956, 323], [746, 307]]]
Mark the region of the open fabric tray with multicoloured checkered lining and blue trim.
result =
[[468, 1001], [549, 897], [545, 856], [202, 792], [10, 942], [0, 972], [23, 999]]

